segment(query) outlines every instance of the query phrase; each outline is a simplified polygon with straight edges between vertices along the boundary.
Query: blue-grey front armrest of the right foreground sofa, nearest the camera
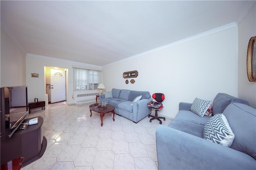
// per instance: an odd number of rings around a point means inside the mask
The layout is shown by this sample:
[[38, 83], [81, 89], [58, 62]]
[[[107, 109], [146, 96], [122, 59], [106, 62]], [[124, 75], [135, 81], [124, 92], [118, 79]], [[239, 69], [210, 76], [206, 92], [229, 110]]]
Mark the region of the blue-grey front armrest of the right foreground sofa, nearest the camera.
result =
[[176, 130], [156, 129], [158, 168], [255, 169], [256, 160], [243, 152]]

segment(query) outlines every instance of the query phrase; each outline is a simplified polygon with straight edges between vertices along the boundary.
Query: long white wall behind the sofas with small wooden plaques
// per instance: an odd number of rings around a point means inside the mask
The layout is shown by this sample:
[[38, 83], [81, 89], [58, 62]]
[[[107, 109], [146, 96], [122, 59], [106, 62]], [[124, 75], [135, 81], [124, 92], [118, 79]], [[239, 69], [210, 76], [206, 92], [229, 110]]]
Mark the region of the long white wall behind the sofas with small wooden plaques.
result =
[[[106, 91], [112, 88], [164, 93], [164, 109], [174, 118], [179, 103], [196, 97], [213, 100], [217, 93], [238, 95], [238, 27], [184, 42], [103, 67]], [[126, 85], [123, 72], [138, 71]], [[130, 80], [134, 79], [134, 84]]]

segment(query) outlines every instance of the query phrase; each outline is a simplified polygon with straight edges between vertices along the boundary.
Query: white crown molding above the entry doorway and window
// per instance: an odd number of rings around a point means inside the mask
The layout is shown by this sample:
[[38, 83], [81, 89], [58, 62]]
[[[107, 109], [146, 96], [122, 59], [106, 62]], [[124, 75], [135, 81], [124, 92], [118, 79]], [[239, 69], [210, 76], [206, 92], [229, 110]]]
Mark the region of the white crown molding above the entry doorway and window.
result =
[[[59, 59], [59, 58], [48, 57], [48, 56], [44, 56], [44, 55], [31, 54], [31, 53], [27, 53], [26, 56], [38, 57], [38, 58], [43, 58], [43, 59], [52, 59], [52, 60], [56, 60], [56, 61], [64, 61], [64, 62], [74, 63], [74, 64], [78, 64], [78, 65], [86, 65], [83, 68], [89, 68], [89, 69], [97, 68], [99, 70], [102, 70], [102, 66], [100, 66], [100, 65], [93, 65], [93, 64], [88, 64], [88, 63], [82, 63], [82, 62], [71, 61], [71, 60], [66, 60], [66, 59]], [[78, 66], [76, 66], [76, 67], [78, 67]]]

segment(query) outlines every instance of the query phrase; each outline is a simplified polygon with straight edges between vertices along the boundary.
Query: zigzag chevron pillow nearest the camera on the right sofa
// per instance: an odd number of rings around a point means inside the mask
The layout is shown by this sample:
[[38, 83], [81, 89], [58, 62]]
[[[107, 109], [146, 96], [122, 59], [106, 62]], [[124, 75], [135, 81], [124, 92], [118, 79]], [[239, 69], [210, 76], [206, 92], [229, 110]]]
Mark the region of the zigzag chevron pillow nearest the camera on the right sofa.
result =
[[211, 117], [204, 125], [204, 139], [230, 147], [235, 138], [228, 120], [221, 114]]

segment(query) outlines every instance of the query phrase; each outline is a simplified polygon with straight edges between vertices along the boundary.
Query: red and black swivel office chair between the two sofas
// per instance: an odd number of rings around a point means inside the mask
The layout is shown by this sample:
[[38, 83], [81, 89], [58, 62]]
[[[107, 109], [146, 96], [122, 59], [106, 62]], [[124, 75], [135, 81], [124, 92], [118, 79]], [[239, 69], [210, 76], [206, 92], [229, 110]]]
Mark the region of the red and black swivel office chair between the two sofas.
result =
[[162, 101], [164, 101], [164, 99], [165, 99], [164, 94], [163, 93], [154, 93], [152, 95], [152, 98], [155, 99], [157, 102], [153, 101], [153, 102], [148, 103], [148, 107], [150, 109], [155, 109], [156, 111], [155, 111], [154, 116], [153, 115], [148, 115], [148, 117], [153, 117], [153, 118], [150, 119], [149, 122], [151, 122], [153, 119], [157, 119], [158, 121], [160, 121], [159, 123], [162, 124], [162, 121], [160, 119], [164, 119], [164, 121], [165, 121], [165, 117], [158, 117], [157, 111], [164, 108], [163, 105], [162, 105]]

